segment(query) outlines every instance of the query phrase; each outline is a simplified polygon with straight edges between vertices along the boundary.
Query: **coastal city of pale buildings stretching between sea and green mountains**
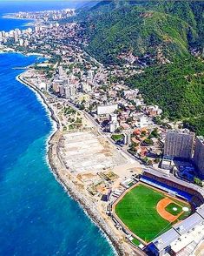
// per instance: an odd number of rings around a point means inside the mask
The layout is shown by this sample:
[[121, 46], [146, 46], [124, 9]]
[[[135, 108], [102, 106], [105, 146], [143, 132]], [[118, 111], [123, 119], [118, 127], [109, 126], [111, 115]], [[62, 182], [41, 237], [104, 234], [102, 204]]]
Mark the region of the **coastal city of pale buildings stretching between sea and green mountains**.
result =
[[[57, 123], [49, 141], [53, 172], [119, 253], [193, 255], [204, 233], [204, 138], [164, 118], [157, 104], [146, 104], [140, 90], [128, 86], [127, 78], [148, 62], [128, 52], [122, 65], [99, 63], [84, 51], [89, 38], [82, 26], [64, 22], [72, 16], [71, 9], [20, 12], [14, 17], [35, 20], [31, 28], [0, 31], [1, 52], [43, 57], [17, 79], [39, 93]], [[178, 215], [151, 239], [131, 230], [117, 205], [140, 185], [184, 204], [186, 219], [176, 222]]]

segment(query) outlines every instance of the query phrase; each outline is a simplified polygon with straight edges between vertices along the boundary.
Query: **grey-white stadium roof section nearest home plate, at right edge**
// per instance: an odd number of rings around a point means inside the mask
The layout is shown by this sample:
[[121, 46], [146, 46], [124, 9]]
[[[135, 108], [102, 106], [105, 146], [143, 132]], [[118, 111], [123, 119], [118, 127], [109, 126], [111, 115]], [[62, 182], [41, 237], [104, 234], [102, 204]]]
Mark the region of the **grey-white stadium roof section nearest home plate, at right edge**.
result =
[[175, 224], [173, 228], [180, 234], [183, 234], [188, 232], [189, 230], [194, 228], [194, 226], [197, 226], [203, 221], [204, 219], [202, 219], [201, 216], [195, 212], [193, 215], [189, 216], [187, 219], [184, 219], [180, 223]]

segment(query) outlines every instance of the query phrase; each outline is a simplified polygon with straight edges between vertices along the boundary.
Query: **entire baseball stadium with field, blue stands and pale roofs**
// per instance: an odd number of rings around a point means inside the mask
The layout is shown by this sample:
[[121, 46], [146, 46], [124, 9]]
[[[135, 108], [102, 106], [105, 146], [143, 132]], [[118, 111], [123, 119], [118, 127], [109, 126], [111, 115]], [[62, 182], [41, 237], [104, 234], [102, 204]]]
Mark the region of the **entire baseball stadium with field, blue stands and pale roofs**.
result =
[[111, 205], [112, 219], [148, 255], [194, 255], [204, 239], [201, 187], [145, 169]]

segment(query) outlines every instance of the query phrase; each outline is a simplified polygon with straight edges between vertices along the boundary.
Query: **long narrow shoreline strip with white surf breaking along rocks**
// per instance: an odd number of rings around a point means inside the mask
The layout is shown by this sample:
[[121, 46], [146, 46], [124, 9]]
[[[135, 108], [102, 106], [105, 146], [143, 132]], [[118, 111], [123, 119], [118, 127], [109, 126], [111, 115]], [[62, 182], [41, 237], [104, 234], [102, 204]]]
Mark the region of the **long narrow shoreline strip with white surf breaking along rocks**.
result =
[[[26, 83], [21, 77], [22, 73], [16, 76], [16, 80], [21, 84], [29, 87], [31, 91], [36, 93], [36, 96], [39, 97], [39, 100], [49, 111], [49, 118], [54, 125], [53, 131], [50, 131], [50, 134], [46, 140], [46, 160], [49, 165], [50, 172], [54, 175], [56, 181], [63, 186], [65, 192], [69, 194], [69, 196], [74, 199], [80, 207], [82, 207], [83, 212], [89, 217], [89, 219], [95, 223], [102, 235], [108, 240], [110, 246], [112, 246], [117, 255], [125, 255], [121, 243], [115, 237], [115, 234], [111, 232], [107, 223], [105, 223], [104, 219], [94, 211], [95, 205], [92, 205], [91, 202], [88, 202], [86, 198], [82, 196], [82, 194], [77, 192], [77, 187], [71, 179], [63, 179], [63, 172], [56, 167], [56, 163], [54, 160], [54, 148], [57, 147], [58, 143], [55, 143], [56, 138], [60, 135], [60, 121], [56, 118], [55, 111], [53, 111], [52, 107], [47, 102], [47, 98], [43, 95], [42, 91], [36, 88], [35, 85], [31, 85]], [[58, 139], [59, 140], [59, 139]]]

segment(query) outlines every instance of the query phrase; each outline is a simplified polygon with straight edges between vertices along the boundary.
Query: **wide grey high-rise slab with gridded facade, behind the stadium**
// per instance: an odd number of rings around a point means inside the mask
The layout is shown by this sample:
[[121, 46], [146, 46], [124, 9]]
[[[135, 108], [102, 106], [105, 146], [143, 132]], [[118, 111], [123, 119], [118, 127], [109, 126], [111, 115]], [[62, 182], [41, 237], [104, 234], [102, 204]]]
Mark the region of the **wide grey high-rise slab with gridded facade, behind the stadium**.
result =
[[164, 144], [165, 158], [192, 158], [194, 132], [168, 131]]

